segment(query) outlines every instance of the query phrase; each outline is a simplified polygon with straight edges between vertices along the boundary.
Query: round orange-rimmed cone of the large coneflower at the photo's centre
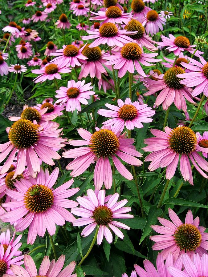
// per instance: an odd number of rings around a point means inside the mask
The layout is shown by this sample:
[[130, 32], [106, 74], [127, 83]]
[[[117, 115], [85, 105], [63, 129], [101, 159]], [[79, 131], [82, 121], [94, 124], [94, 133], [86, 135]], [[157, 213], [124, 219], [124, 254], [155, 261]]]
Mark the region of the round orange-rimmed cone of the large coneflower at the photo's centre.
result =
[[119, 139], [114, 132], [101, 129], [92, 134], [89, 147], [96, 157], [110, 157], [115, 155], [120, 146]]

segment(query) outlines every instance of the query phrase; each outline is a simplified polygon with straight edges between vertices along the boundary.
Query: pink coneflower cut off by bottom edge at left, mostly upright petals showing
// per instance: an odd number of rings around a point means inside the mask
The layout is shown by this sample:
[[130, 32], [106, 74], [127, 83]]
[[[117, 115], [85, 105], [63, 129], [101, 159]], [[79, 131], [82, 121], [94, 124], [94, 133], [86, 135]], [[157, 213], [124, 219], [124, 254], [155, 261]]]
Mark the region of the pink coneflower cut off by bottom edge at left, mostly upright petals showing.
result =
[[72, 274], [76, 263], [73, 261], [62, 270], [64, 265], [64, 260], [65, 260], [65, 256], [61, 255], [57, 260], [57, 262], [55, 262], [55, 260], [52, 260], [50, 263], [49, 257], [45, 256], [43, 258], [43, 261], [40, 265], [39, 272], [38, 272], [32, 257], [30, 255], [25, 254], [24, 255], [25, 269], [20, 266], [12, 266], [11, 271], [14, 275], [11, 275], [11, 276], [20, 276], [21, 274], [24, 277], [31, 277], [31, 276], [76, 277], [76, 274]]

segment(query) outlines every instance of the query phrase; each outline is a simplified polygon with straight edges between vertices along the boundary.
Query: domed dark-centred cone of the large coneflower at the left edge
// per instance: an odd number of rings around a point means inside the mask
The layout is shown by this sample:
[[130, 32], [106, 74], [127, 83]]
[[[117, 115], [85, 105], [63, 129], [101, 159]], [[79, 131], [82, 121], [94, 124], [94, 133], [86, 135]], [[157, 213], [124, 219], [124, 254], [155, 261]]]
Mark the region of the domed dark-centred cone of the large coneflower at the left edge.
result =
[[27, 149], [39, 140], [38, 126], [30, 120], [21, 118], [12, 124], [8, 137], [18, 149]]

